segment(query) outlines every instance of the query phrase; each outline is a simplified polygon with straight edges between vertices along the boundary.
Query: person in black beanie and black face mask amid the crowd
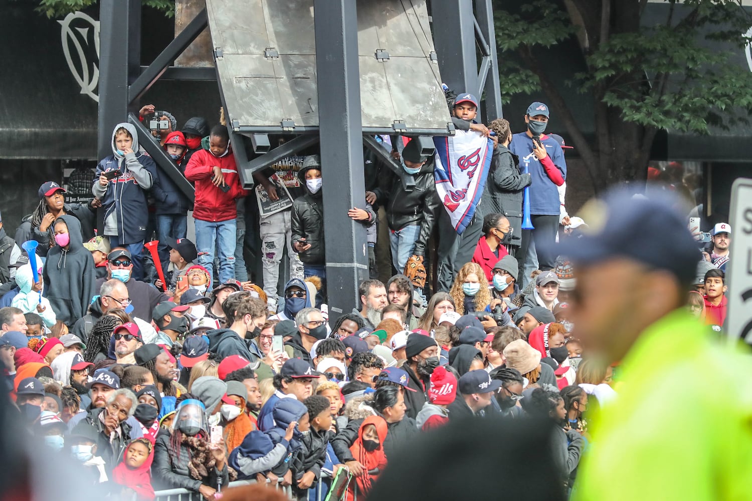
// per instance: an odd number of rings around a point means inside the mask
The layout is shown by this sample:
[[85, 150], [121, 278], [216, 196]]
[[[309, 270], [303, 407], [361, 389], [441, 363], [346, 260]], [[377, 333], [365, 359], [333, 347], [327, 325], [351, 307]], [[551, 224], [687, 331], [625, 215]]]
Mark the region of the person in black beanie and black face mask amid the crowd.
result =
[[431, 374], [438, 367], [438, 345], [432, 337], [411, 333], [405, 356], [408, 360], [402, 364], [402, 370], [408, 373], [408, 388], [415, 390], [405, 392], [406, 415], [414, 419], [428, 401]]

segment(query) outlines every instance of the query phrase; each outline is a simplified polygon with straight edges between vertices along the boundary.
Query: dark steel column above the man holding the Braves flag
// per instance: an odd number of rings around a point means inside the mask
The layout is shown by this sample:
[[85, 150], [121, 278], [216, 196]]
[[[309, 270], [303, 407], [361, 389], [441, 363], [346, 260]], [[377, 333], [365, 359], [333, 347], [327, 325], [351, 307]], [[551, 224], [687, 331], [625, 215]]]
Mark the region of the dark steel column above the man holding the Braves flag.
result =
[[[444, 83], [460, 94], [478, 89], [472, 0], [432, 0], [433, 42]], [[481, 99], [480, 95], [475, 96]]]

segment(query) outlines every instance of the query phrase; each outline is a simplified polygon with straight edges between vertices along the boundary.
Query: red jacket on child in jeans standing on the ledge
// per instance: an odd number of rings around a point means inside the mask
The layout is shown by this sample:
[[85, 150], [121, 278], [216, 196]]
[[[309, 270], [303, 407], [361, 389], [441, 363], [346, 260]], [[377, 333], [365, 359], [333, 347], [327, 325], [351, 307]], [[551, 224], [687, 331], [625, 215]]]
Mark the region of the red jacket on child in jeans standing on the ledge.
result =
[[[219, 165], [225, 177], [225, 183], [230, 186], [227, 192], [211, 183], [211, 168]], [[194, 219], [202, 221], [220, 222], [235, 219], [238, 210], [235, 199], [246, 195], [240, 184], [238, 168], [235, 167], [235, 157], [232, 151], [222, 158], [217, 158], [208, 149], [199, 149], [193, 153], [186, 165], [186, 179], [196, 183], [196, 204], [193, 206]]]

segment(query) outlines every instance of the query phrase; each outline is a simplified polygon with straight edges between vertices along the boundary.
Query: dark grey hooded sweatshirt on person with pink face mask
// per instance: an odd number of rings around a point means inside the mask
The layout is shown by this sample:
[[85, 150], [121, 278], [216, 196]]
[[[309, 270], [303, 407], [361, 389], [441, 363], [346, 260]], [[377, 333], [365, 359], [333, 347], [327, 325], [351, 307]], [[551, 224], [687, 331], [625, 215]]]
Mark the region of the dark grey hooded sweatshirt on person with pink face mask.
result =
[[81, 224], [74, 216], [60, 216], [55, 221], [68, 225], [70, 243], [68, 249], [55, 245], [47, 252], [44, 261], [44, 293], [65, 325], [73, 326], [86, 315], [86, 309], [96, 294], [94, 283], [94, 260], [91, 252], [83, 247]]

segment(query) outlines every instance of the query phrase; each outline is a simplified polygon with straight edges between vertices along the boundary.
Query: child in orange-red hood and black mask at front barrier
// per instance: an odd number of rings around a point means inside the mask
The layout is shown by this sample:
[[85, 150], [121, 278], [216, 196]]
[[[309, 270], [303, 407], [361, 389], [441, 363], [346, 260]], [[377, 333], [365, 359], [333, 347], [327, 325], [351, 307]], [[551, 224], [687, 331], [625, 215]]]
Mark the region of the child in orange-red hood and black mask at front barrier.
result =
[[387, 467], [384, 439], [387, 438], [387, 421], [380, 416], [369, 416], [360, 424], [358, 439], [350, 447], [353, 457], [363, 465], [363, 474], [347, 486], [345, 499], [355, 499], [357, 485], [359, 497], [367, 497], [380, 472]]

